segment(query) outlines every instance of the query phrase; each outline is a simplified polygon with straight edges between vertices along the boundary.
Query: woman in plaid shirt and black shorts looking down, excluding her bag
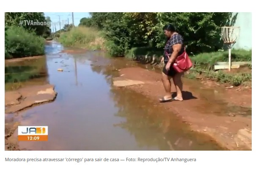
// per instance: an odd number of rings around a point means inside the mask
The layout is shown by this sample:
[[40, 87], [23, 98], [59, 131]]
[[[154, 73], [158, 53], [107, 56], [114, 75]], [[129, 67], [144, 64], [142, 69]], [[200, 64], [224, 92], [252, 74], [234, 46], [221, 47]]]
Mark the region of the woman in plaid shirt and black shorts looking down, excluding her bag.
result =
[[[183, 101], [182, 98], [182, 73], [176, 72], [173, 69], [173, 62], [177, 56], [180, 56], [184, 52], [183, 37], [179, 35], [173, 25], [168, 24], [163, 27], [163, 31], [168, 41], [165, 45], [165, 53], [162, 61], [165, 63], [162, 69], [162, 82], [165, 88], [165, 96], [160, 98], [160, 102], [167, 101]], [[171, 96], [171, 78], [173, 78], [173, 83], [176, 88], [177, 95], [172, 98]]]

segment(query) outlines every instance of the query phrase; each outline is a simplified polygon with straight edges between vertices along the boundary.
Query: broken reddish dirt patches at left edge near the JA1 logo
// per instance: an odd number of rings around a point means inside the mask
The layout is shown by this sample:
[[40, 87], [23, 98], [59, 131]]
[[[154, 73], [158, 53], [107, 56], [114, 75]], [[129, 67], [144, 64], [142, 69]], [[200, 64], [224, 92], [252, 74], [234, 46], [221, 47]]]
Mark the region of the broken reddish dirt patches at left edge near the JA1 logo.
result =
[[[5, 113], [16, 113], [28, 107], [53, 101], [57, 96], [54, 85], [36, 85], [5, 92]], [[5, 150], [19, 150], [17, 138], [12, 134], [19, 123], [5, 120]]]

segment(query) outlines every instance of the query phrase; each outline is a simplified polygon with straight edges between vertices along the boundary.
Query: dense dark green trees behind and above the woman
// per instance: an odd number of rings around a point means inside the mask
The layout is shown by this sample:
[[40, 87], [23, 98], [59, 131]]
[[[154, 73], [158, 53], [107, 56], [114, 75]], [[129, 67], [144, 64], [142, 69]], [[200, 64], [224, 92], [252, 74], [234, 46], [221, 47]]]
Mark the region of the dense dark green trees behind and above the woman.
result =
[[[165, 45], [163, 26], [172, 23], [183, 35], [187, 51], [213, 52], [223, 47], [220, 27], [232, 25], [231, 13], [90, 13], [81, 25], [105, 31], [114, 56], [124, 56], [133, 47], [162, 49]], [[175, 21], [175, 22], [174, 22]]]

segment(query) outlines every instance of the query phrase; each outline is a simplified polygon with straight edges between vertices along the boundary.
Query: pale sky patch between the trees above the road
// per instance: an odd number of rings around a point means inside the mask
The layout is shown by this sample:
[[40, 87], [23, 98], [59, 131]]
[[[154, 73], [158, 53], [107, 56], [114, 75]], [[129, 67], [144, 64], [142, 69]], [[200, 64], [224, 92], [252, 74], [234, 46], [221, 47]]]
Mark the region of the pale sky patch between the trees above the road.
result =
[[[54, 25], [54, 23], [58, 23], [59, 22], [59, 16], [61, 18], [61, 29], [63, 28], [64, 24], [72, 24], [72, 12], [45, 12], [44, 13], [45, 16], [50, 16], [50, 19], [52, 21], [52, 25]], [[80, 23], [80, 19], [84, 18], [84, 17], [89, 17], [89, 13], [88, 12], [74, 12], [74, 25], [78, 26], [78, 24]], [[56, 25], [56, 30], [58, 31], [60, 29], [59, 24]]]

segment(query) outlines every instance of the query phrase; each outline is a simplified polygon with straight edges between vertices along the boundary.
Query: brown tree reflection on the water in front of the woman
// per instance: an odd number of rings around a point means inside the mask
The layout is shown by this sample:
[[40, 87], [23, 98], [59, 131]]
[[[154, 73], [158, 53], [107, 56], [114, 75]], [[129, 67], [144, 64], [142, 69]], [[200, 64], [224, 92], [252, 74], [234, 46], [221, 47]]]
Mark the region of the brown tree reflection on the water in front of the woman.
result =
[[[115, 77], [107, 66], [92, 66], [92, 70], [101, 70], [108, 83]], [[188, 125], [176, 115], [142, 94], [122, 88], [112, 88], [110, 92], [110, 98], [118, 108], [115, 116], [125, 118], [125, 121], [114, 126], [135, 136], [139, 147], [154, 147], [157, 150], [223, 150], [209, 137], [191, 132]]]

